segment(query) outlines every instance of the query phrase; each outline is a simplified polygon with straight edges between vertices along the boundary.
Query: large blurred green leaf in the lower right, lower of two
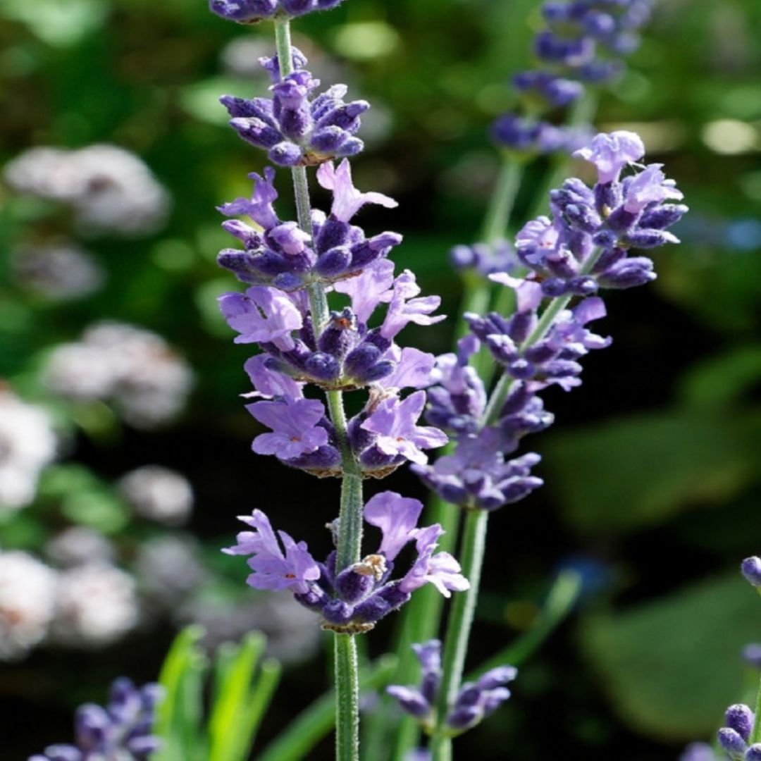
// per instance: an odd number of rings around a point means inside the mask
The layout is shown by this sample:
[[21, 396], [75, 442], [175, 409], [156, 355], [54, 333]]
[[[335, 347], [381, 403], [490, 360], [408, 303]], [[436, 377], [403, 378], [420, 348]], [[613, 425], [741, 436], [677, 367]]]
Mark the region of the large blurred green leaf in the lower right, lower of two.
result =
[[632, 728], [687, 740], [711, 735], [724, 708], [742, 697], [740, 649], [759, 632], [761, 603], [734, 572], [592, 617], [581, 640]]

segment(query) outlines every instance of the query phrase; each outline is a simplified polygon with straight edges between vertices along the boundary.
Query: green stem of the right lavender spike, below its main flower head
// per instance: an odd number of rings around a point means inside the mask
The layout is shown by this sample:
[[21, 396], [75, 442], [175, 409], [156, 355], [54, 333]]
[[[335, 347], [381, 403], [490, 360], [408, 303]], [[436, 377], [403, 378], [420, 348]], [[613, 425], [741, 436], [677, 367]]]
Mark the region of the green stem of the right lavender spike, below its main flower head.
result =
[[489, 513], [486, 510], [468, 511], [465, 517], [460, 562], [463, 574], [470, 581], [470, 589], [455, 595], [447, 623], [447, 639], [441, 658], [444, 674], [441, 678], [437, 707], [437, 728], [430, 746], [433, 761], [448, 761], [452, 755], [452, 740], [447, 734], [444, 722], [460, 690], [470, 629], [476, 612], [488, 522]]

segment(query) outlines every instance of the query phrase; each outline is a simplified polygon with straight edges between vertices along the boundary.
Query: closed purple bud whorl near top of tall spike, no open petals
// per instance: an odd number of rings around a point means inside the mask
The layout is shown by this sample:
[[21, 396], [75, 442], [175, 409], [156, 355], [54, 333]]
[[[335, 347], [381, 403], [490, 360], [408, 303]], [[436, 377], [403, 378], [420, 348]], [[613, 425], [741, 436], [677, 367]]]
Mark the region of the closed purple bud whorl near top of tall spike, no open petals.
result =
[[354, 135], [360, 127], [359, 117], [370, 103], [345, 103], [345, 84], [334, 84], [312, 97], [320, 80], [304, 68], [307, 59], [296, 48], [293, 63], [296, 70], [284, 77], [277, 56], [260, 59], [272, 80], [271, 100], [221, 97], [232, 117], [230, 126], [245, 141], [266, 150], [269, 161], [281, 167], [322, 164], [359, 153], [364, 144]]

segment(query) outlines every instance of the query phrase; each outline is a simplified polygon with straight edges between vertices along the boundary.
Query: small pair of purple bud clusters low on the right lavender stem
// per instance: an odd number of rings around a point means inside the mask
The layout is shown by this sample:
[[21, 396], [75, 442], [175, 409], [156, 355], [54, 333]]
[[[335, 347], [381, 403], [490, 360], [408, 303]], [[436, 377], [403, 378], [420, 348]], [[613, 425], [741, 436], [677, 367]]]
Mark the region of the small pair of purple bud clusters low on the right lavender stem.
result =
[[[435, 711], [441, 686], [441, 642], [431, 639], [422, 645], [412, 645], [420, 661], [421, 680], [418, 687], [390, 685], [387, 693], [393, 696], [404, 712], [416, 718], [430, 730], [435, 724]], [[499, 666], [487, 671], [476, 682], [466, 682], [460, 688], [454, 705], [447, 715], [445, 726], [452, 735], [472, 729], [510, 697], [505, 684], [517, 677], [517, 669]]]

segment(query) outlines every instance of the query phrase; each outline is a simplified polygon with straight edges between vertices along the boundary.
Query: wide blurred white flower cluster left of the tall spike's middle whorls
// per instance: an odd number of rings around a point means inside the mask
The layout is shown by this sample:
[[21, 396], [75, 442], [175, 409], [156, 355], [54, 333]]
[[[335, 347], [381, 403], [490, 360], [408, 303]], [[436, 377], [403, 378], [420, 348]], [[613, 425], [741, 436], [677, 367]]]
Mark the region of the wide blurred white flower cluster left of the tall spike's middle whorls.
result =
[[53, 349], [43, 380], [70, 399], [110, 400], [135, 428], [152, 428], [183, 409], [193, 373], [156, 333], [104, 322]]

